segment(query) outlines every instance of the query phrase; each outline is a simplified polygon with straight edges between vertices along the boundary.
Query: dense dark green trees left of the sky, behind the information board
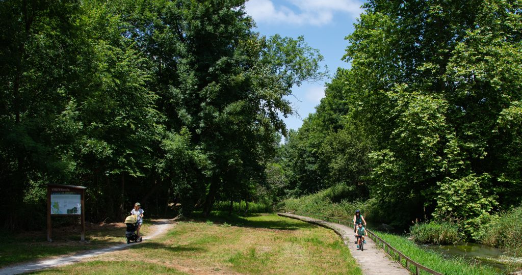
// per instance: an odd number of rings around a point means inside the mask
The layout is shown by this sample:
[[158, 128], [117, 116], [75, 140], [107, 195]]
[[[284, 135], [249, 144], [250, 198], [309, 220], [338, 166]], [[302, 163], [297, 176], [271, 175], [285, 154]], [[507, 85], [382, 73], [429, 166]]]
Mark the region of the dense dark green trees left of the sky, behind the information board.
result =
[[2, 1], [5, 226], [44, 216], [46, 183], [87, 186], [91, 221], [137, 200], [148, 213], [254, 200], [284, 95], [324, 73], [302, 37], [253, 32], [243, 4]]

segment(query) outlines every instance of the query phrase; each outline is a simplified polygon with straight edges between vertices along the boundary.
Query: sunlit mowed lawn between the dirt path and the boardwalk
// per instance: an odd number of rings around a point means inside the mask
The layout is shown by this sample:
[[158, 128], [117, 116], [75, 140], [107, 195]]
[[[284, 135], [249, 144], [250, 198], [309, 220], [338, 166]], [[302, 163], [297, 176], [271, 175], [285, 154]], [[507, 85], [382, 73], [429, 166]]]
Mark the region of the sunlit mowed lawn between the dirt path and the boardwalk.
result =
[[333, 231], [276, 214], [179, 222], [164, 236], [39, 274], [361, 274]]

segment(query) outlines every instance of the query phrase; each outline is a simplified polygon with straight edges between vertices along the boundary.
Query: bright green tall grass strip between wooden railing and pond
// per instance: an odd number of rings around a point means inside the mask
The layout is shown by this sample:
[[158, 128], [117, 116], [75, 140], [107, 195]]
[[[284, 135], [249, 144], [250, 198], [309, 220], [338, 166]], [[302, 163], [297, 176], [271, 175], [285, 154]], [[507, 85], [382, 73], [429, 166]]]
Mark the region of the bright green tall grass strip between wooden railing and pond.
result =
[[[419, 264], [428, 267], [445, 275], [491, 275], [502, 274], [499, 270], [492, 267], [470, 264], [470, 262], [462, 258], [446, 259], [440, 253], [423, 249], [404, 236], [387, 234], [383, 232], [373, 231], [377, 236], [381, 237], [389, 245], [399, 250], [402, 254]], [[398, 259], [398, 256], [395, 256]], [[406, 261], [402, 260], [402, 264], [406, 265]], [[413, 272], [415, 269], [412, 266]], [[421, 274], [429, 274], [422, 271]]]

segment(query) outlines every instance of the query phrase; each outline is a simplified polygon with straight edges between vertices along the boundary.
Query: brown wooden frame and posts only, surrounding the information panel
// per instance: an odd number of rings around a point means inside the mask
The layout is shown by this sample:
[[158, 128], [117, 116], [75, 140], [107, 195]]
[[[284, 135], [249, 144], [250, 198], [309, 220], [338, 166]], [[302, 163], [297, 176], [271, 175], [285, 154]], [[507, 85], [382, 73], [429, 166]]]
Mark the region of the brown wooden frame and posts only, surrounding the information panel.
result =
[[[52, 242], [52, 223], [51, 223], [51, 215], [58, 217], [70, 217], [70, 216], [80, 216], [81, 219], [81, 240], [85, 241], [85, 186], [73, 186], [73, 185], [60, 185], [60, 184], [48, 184], [47, 185], [47, 240]], [[70, 195], [80, 195], [80, 209], [79, 214], [77, 214], [77, 209], [75, 211], [71, 211], [71, 213], [67, 214], [52, 214], [51, 213], [51, 195], [57, 194], [70, 194]], [[67, 210], [68, 211], [68, 210]]]

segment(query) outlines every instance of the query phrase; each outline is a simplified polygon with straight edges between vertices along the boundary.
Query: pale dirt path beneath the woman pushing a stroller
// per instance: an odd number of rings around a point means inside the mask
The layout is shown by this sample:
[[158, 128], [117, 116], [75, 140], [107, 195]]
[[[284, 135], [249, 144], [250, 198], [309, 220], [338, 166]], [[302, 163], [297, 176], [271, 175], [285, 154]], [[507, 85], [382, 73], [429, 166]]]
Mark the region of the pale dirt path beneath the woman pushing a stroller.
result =
[[[174, 221], [174, 219], [170, 219], [170, 220], [161, 219], [161, 220], [154, 221], [152, 223], [152, 233], [144, 236], [143, 240], [144, 241], [150, 240], [151, 238], [155, 238], [155, 237], [167, 232], [167, 230], [173, 226], [173, 221]], [[31, 271], [35, 271], [35, 270], [45, 269], [45, 268], [69, 265], [69, 264], [73, 264], [74, 262], [84, 260], [86, 258], [98, 256], [98, 255], [113, 252], [116, 250], [122, 250], [131, 245], [139, 245], [139, 244], [140, 243], [115, 245], [115, 246], [111, 246], [111, 247], [90, 250], [88, 252], [76, 254], [73, 256], [58, 257], [58, 258], [40, 260], [40, 261], [35, 261], [35, 262], [27, 262], [25, 264], [20, 264], [20, 265], [15, 265], [15, 266], [9, 266], [9, 267], [0, 269], [0, 275], [20, 274], [20, 273], [26, 273], [26, 272], [31, 272]]]

